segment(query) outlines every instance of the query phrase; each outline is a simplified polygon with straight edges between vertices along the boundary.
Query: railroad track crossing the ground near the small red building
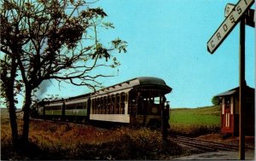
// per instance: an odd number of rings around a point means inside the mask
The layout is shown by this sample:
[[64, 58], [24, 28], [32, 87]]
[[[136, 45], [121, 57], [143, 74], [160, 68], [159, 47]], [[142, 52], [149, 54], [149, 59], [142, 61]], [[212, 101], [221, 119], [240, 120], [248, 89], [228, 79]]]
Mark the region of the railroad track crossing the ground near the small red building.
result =
[[[184, 137], [180, 135], [171, 135], [172, 141], [183, 144], [189, 147], [195, 147], [207, 152], [216, 152], [216, 151], [237, 151], [239, 147], [235, 145], [228, 145], [224, 143], [219, 143], [215, 141], [204, 141], [200, 139], [195, 139], [191, 137]], [[253, 148], [246, 148], [247, 150], [254, 150]]]

